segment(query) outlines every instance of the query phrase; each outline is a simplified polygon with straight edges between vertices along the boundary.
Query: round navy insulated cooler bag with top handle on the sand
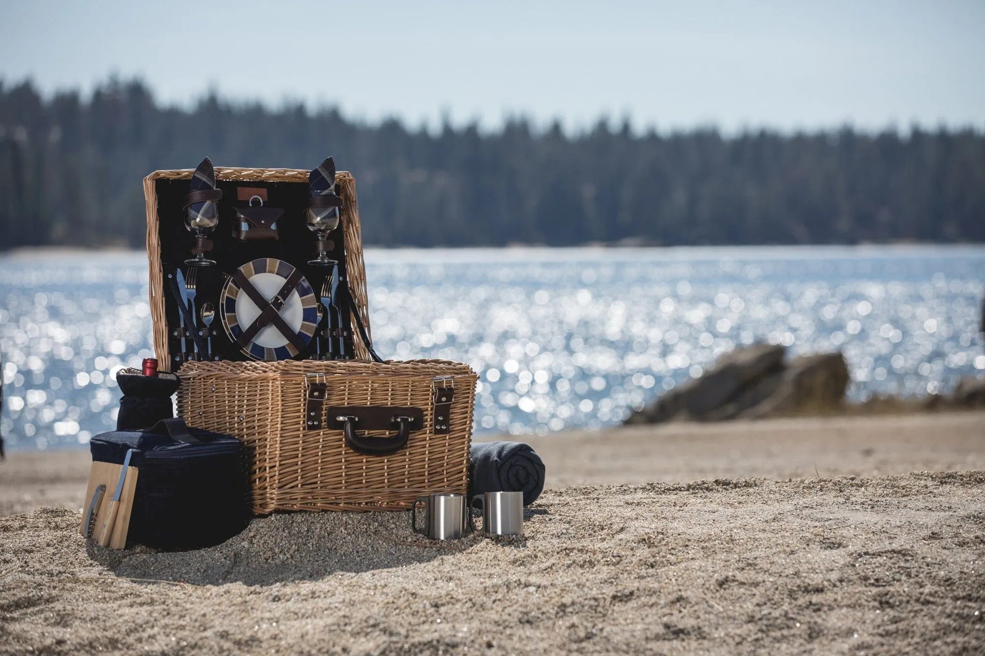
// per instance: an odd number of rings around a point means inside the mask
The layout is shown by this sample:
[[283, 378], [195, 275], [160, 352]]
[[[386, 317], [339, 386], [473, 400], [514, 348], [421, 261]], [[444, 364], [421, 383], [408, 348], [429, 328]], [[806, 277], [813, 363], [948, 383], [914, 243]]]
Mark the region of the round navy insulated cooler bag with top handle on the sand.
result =
[[95, 462], [139, 471], [128, 543], [162, 550], [202, 549], [236, 535], [249, 522], [250, 491], [242, 443], [189, 428], [180, 418], [152, 428], [113, 430], [90, 441]]

